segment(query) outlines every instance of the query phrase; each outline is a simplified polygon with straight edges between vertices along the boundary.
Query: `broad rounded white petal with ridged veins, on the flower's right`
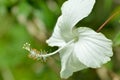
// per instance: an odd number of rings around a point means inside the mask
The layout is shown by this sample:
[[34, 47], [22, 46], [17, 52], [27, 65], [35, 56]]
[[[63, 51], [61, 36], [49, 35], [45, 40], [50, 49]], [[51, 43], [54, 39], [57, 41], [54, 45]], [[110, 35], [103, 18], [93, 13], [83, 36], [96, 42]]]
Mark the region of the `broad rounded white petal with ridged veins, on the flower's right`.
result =
[[79, 40], [75, 43], [74, 53], [87, 67], [97, 68], [110, 61], [112, 41], [102, 33], [96, 33], [90, 28], [78, 29]]

